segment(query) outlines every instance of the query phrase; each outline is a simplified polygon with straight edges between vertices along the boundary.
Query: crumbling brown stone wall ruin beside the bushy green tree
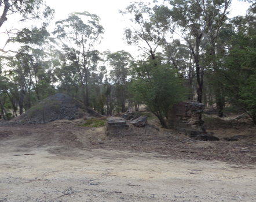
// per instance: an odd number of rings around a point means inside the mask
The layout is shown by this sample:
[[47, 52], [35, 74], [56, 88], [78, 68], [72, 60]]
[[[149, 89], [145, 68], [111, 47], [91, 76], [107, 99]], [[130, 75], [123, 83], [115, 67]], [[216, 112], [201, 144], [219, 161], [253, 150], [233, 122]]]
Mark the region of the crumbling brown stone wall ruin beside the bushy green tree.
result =
[[204, 105], [195, 101], [174, 104], [168, 113], [168, 126], [197, 140], [219, 140], [213, 133], [206, 132], [203, 110]]

